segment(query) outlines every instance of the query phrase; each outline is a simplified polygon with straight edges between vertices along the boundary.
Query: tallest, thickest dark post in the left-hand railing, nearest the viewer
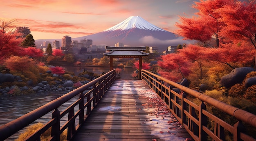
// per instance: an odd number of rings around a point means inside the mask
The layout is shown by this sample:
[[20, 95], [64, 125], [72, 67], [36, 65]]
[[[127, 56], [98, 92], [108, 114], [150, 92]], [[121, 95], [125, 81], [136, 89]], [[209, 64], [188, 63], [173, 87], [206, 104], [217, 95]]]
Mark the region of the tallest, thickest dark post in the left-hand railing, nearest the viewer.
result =
[[61, 112], [58, 111], [58, 108], [52, 113], [52, 119], [54, 118], [56, 119], [56, 122], [52, 125], [51, 136], [54, 136], [56, 141], [60, 141]]

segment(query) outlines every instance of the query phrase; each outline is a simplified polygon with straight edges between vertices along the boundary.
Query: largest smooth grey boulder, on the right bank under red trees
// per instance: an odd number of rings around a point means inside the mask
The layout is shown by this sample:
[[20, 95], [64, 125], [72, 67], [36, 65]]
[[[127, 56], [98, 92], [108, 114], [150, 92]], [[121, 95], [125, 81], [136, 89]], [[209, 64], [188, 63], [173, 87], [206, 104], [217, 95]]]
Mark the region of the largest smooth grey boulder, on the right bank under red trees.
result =
[[224, 87], [232, 87], [235, 84], [242, 83], [245, 79], [245, 76], [255, 71], [252, 67], [238, 67], [233, 69], [228, 75], [223, 76], [220, 79], [220, 85]]

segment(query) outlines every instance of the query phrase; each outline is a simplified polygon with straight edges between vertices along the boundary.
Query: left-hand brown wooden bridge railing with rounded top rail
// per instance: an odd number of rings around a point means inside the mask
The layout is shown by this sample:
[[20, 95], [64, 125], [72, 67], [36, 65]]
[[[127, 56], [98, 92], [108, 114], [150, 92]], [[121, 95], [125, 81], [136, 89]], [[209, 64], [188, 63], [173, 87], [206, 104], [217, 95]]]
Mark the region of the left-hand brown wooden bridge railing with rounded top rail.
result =
[[[48, 121], [42, 128], [34, 132], [29, 136], [27, 141], [40, 141], [40, 135], [43, 134], [47, 129], [51, 128], [51, 138], [50, 141], [59, 141], [61, 133], [67, 129], [67, 140], [72, 139], [76, 131], [82, 126], [85, 119], [90, 115], [90, 112], [97, 105], [101, 97], [110, 87], [112, 82], [116, 79], [115, 70], [112, 70], [99, 78], [88, 82], [87, 84], [27, 113], [0, 127], [0, 141], [9, 138], [11, 135], [15, 134], [22, 128], [25, 128], [29, 124], [33, 123], [40, 117], [53, 111], [52, 119]], [[88, 91], [88, 88], [90, 91]], [[88, 92], [85, 92], [88, 91]], [[79, 96], [76, 96], [79, 95]], [[59, 111], [59, 107], [63, 104], [68, 104], [67, 102], [72, 98], [77, 98], [74, 103], [69, 104], [69, 106], [64, 111]], [[78, 109], [75, 107], [79, 107]], [[62, 119], [64, 116], [68, 116], [67, 121]], [[78, 122], [76, 123], [75, 121]], [[64, 120], [64, 124], [61, 125], [61, 121]]]

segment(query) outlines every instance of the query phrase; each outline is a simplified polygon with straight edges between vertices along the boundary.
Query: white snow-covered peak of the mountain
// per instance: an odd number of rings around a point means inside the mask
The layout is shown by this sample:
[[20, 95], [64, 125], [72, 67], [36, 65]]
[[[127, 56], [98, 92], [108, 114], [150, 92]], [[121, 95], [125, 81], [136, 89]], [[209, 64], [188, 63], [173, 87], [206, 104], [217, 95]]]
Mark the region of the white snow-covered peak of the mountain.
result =
[[104, 31], [114, 31], [114, 30], [128, 30], [132, 28], [139, 28], [144, 30], [155, 30], [155, 31], [165, 31], [162, 28], [159, 28], [153, 24], [150, 24], [146, 20], [144, 20], [142, 17], [139, 16], [130, 16], [123, 22], [120, 22], [119, 24], [112, 26], [111, 28], [108, 28]]

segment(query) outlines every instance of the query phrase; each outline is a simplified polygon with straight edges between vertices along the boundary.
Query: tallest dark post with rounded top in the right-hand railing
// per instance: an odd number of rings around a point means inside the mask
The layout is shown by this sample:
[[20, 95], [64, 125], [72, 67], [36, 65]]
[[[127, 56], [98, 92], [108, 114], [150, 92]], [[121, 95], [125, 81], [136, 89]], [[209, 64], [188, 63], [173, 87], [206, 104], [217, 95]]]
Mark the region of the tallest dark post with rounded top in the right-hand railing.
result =
[[202, 110], [206, 110], [204, 102], [199, 104], [199, 141], [206, 141], [207, 134], [203, 130], [203, 126], [207, 126], [207, 117], [202, 113]]

